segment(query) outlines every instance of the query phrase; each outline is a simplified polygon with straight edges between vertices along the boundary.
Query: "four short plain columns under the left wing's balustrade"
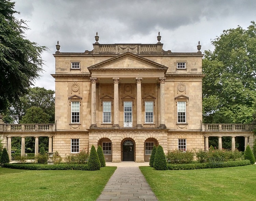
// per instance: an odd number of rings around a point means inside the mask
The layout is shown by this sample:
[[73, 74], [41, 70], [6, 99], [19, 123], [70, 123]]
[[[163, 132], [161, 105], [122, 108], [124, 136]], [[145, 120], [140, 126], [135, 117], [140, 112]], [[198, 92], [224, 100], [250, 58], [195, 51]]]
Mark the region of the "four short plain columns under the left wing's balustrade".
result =
[[[7, 152], [9, 155], [9, 158], [11, 160], [11, 156], [12, 156], [12, 137], [14, 136], [7, 136]], [[19, 136], [15, 136], [15, 137], [19, 137]], [[21, 136], [22, 140], [21, 140], [21, 155], [25, 156], [25, 137]], [[35, 137], [35, 155], [38, 154], [38, 138], [39, 137]], [[52, 153], [53, 152], [53, 137], [49, 136], [49, 149], [48, 149], [48, 153]]]

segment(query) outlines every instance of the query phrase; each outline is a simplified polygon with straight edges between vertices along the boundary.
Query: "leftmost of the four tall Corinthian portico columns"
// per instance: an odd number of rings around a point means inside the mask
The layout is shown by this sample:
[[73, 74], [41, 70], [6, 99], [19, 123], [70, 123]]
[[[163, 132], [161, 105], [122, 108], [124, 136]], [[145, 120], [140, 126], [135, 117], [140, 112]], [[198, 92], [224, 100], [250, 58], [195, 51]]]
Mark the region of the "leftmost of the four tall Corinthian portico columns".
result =
[[96, 125], [96, 82], [97, 77], [90, 77], [91, 80], [91, 125], [90, 128], [97, 128]]

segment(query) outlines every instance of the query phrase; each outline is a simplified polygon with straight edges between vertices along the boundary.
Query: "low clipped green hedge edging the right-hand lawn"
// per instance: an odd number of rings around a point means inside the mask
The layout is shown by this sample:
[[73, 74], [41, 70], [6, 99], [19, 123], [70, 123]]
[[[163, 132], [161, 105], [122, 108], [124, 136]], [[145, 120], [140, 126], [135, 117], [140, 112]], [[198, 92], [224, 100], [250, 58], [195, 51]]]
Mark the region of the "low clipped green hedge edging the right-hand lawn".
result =
[[[251, 164], [250, 160], [227, 161], [222, 164], [215, 165], [215, 168], [247, 166], [250, 164]], [[195, 170], [195, 169], [205, 169], [205, 168], [212, 168], [212, 164], [211, 163], [167, 164], [167, 170]]]

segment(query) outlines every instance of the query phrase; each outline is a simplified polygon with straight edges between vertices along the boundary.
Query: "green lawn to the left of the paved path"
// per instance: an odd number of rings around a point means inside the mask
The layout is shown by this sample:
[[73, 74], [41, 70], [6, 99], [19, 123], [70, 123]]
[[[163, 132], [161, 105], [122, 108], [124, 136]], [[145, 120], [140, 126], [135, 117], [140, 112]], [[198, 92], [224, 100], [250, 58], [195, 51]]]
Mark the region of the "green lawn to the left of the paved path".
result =
[[0, 200], [95, 201], [116, 167], [97, 171], [0, 168]]

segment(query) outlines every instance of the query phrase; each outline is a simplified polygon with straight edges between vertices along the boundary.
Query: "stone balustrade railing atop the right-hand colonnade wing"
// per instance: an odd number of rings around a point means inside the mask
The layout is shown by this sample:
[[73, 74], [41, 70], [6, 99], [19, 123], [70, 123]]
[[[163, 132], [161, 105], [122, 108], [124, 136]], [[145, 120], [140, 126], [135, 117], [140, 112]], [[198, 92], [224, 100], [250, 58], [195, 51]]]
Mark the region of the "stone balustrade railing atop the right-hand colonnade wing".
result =
[[252, 124], [203, 124], [203, 131], [250, 131]]

